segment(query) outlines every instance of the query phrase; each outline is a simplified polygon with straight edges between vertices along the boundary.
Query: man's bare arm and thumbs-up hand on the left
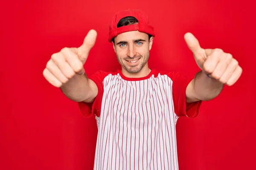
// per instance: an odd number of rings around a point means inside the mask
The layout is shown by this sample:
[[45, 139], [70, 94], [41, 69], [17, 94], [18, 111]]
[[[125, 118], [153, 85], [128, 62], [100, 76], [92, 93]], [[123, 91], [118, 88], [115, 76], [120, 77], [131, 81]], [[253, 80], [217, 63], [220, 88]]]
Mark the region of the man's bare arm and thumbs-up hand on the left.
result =
[[60, 88], [65, 96], [75, 102], [92, 102], [98, 93], [96, 84], [84, 72], [84, 63], [96, 36], [96, 31], [90, 30], [80, 47], [66, 47], [52, 54], [43, 71], [50, 84]]

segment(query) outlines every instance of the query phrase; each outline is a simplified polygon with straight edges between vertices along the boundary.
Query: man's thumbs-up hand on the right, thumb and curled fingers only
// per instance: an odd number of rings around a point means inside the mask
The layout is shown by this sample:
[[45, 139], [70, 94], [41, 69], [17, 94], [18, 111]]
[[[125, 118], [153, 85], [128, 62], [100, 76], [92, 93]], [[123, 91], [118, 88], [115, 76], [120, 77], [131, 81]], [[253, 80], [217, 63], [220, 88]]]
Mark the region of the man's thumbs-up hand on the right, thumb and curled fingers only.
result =
[[233, 85], [241, 76], [242, 68], [238, 61], [229, 53], [219, 48], [204, 49], [191, 33], [186, 33], [184, 39], [192, 51], [198, 67], [209, 77], [228, 86]]

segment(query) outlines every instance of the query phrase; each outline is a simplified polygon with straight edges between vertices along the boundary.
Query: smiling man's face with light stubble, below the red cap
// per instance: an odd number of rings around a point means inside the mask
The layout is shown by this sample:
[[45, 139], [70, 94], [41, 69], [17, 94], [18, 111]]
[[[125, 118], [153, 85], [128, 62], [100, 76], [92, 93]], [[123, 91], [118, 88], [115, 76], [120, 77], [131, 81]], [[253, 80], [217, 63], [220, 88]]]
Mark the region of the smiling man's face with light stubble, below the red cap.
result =
[[116, 57], [123, 69], [138, 73], [147, 64], [153, 37], [139, 31], [129, 31], [117, 35], [113, 43]]

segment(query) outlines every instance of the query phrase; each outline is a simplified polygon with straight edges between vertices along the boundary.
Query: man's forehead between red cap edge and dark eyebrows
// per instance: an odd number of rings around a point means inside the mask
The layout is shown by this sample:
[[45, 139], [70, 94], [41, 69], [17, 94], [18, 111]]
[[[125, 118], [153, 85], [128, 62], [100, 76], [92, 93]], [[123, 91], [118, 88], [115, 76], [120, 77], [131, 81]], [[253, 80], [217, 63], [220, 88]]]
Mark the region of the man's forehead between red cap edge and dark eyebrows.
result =
[[144, 33], [144, 32], [140, 32], [140, 31], [128, 31], [128, 32], [124, 32], [122, 34], [118, 34], [115, 37], [115, 42], [118, 41], [133, 41], [133, 40], [137, 40], [137, 39], [143, 39], [143, 40], [148, 40], [148, 34]]

